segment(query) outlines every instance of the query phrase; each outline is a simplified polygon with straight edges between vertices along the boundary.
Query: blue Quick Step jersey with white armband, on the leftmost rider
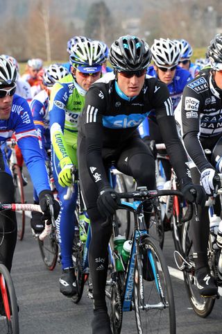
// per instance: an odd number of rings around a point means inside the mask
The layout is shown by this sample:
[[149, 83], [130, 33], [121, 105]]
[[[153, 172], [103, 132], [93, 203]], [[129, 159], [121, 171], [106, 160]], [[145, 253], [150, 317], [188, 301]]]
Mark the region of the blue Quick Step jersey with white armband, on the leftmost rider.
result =
[[[31, 109], [28, 106], [28, 102], [17, 94], [14, 95], [12, 100], [12, 109], [9, 119], [0, 119], [1, 147], [6, 140], [12, 137], [12, 133], [15, 133], [17, 144], [22, 151], [22, 155], [37, 194], [40, 194], [42, 190], [50, 190], [49, 178], [44, 165], [44, 159], [42, 159]], [[6, 172], [10, 174], [10, 169], [6, 163], [5, 156], [4, 160]]]

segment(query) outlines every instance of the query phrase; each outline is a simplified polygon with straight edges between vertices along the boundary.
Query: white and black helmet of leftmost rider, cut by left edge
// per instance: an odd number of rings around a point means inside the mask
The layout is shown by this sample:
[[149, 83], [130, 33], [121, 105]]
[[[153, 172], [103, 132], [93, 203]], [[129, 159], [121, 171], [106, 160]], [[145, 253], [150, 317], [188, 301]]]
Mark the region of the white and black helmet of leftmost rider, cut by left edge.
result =
[[0, 87], [10, 87], [17, 81], [17, 68], [11, 60], [0, 57]]

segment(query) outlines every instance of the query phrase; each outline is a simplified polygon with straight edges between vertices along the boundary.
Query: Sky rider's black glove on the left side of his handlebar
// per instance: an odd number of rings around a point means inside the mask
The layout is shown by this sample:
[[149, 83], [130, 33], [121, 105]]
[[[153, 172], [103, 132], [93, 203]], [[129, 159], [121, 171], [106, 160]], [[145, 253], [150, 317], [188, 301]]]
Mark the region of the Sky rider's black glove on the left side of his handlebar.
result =
[[119, 197], [111, 187], [104, 187], [97, 199], [99, 212], [103, 217], [110, 217], [118, 209]]

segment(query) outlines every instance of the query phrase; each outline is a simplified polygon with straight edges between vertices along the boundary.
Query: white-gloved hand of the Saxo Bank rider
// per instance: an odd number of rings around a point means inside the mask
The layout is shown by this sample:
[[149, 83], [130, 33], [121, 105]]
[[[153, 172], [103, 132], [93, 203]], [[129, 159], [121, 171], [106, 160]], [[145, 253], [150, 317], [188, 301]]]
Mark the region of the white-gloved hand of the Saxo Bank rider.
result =
[[206, 168], [200, 174], [200, 183], [203, 185], [205, 192], [212, 195], [216, 185], [221, 187], [220, 177], [213, 168]]

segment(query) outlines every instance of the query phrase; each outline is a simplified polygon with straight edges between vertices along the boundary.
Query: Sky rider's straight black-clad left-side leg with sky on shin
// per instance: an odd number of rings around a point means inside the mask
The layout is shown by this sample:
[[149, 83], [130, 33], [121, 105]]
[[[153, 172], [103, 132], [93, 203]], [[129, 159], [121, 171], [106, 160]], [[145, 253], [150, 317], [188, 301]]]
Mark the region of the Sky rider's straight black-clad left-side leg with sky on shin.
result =
[[112, 233], [112, 225], [102, 226], [105, 219], [97, 208], [98, 189], [89, 175], [86, 163], [85, 138], [78, 137], [78, 167], [80, 189], [91, 222], [92, 240], [89, 247], [89, 269], [92, 278], [94, 297], [94, 319], [92, 333], [111, 334], [110, 319], [105, 303], [105, 283], [108, 270], [108, 243]]

